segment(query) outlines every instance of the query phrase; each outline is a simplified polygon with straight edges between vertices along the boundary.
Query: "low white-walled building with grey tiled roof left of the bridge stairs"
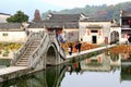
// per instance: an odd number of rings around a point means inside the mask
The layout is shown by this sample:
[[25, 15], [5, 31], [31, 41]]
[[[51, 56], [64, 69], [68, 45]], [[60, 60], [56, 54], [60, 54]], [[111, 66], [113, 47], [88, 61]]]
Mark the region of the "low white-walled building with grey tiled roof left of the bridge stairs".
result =
[[21, 23], [0, 23], [0, 42], [24, 42], [26, 37]]

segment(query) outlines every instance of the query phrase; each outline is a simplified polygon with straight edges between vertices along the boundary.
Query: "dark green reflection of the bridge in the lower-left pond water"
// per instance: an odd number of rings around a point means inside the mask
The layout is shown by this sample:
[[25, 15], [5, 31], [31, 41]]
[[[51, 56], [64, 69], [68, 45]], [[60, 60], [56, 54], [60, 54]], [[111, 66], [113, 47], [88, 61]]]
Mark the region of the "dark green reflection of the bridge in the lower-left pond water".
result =
[[0, 87], [60, 87], [67, 67], [63, 65], [49, 67], [46, 71], [3, 82]]

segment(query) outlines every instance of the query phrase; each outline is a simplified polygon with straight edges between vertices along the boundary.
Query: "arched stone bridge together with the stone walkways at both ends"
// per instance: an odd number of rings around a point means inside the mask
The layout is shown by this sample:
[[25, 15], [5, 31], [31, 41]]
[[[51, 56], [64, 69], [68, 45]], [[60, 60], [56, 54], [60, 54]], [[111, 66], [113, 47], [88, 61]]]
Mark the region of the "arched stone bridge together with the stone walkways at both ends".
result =
[[47, 65], [58, 65], [64, 61], [63, 58], [86, 57], [91, 52], [100, 51], [116, 45], [85, 50], [72, 55], [67, 55], [53, 32], [31, 33], [23, 47], [14, 53], [11, 66], [0, 70], [0, 82], [9, 80], [46, 69]]

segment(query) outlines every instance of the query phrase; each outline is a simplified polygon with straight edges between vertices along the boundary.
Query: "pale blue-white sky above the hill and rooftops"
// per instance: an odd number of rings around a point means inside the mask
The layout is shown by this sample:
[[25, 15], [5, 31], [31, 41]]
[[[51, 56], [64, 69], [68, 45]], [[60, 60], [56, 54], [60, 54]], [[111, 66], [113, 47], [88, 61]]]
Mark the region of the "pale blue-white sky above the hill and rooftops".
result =
[[84, 8], [85, 5], [117, 4], [131, 0], [0, 0], [0, 13], [15, 14], [21, 10], [29, 16], [34, 17], [35, 10], [40, 13], [51, 11], [60, 11], [64, 9]]

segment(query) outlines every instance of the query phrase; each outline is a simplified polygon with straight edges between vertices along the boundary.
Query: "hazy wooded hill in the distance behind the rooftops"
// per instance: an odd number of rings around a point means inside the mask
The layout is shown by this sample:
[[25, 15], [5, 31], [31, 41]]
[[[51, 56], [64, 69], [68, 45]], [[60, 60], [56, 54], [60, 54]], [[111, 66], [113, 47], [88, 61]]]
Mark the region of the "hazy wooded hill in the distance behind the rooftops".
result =
[[116, 5], [86, 5], [85, 8], [74, 8], [74, 9], [67, 9], [61, 10], [59, 12], [57, 11], [48, 11], [43, 13], [43, 20], [48, 15], [48, 13], [62, 13], [62, 14], [78, 14], [78, 13], [84, 13], [91, 18], [95, 20], [112, 20], [116, 18], [119, 21], [119, 13], [121, 10], [131, 11], [131, 1], [118, 3]]

